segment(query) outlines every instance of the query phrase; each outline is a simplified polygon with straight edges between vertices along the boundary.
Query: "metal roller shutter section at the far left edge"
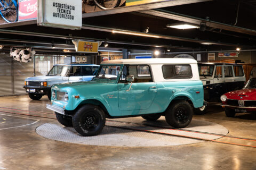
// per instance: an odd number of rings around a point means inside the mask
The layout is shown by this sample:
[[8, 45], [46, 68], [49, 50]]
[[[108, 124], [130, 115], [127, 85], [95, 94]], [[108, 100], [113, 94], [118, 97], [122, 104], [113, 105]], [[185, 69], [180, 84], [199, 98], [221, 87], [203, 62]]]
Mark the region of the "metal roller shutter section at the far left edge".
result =
[[0, 96], [13, 95], [12, 57], [0, 55]]

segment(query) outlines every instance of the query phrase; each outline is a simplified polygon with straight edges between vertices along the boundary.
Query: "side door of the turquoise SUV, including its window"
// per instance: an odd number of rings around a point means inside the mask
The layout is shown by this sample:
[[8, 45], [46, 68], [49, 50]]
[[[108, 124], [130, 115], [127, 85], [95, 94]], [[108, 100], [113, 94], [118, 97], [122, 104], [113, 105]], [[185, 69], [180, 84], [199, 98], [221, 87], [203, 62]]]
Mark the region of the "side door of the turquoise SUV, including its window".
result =
[[[125, 82], [126, 75], [133, 75], [133, 82]], [[148, 109], [156, 96], [157, 85], [153, 82], [148, 65], [124, 66], [118, 83], [118, 107], [120, 111]]]

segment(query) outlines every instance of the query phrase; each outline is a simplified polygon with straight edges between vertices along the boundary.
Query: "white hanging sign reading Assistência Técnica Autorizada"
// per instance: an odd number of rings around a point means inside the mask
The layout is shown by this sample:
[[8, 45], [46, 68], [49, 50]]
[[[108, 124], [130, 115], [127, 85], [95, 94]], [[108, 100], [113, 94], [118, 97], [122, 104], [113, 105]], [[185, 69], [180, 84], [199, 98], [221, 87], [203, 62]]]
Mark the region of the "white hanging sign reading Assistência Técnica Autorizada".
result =
[[81, 29], [81, 0], [38, 0], [37, 24], [65, 29]]

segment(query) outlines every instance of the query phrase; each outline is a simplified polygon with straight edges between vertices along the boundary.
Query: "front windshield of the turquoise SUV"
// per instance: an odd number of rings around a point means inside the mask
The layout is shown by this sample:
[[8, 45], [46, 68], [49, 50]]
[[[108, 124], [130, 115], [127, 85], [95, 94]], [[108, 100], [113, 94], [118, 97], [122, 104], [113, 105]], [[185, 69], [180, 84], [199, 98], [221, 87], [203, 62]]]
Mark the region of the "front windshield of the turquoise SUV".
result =
[[108, 80], [116, 80], [117, 75], [120, 71], [120, 65], [102, 65], [98, 71], [98, 74], [94, 78], [96, 79], [108, 79]]

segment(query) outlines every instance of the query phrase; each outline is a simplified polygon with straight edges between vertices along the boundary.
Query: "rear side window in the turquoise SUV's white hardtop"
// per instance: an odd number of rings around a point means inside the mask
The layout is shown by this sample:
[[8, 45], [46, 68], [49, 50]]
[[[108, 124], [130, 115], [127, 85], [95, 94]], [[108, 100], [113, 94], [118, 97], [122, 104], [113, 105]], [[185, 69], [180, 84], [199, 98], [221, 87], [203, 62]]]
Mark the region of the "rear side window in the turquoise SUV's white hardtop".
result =
[[163, 65], [164, 79], [190, 79], [192, 78], [192, 70], [189, 64], [179, 65]]

